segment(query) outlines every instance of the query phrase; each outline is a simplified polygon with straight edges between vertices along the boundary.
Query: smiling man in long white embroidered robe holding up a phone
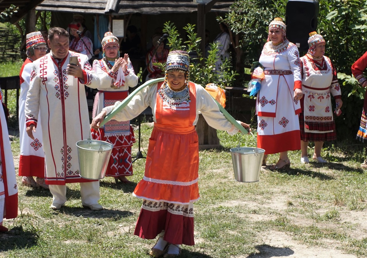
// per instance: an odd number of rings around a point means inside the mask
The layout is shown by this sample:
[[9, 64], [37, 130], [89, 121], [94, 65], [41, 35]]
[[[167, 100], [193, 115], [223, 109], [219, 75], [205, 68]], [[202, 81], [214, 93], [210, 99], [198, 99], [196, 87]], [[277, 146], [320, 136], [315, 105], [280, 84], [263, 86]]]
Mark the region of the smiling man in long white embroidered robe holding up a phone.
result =
[[[53, 196], [51, 209], [66, 202], [66, 183], [80, 183], [83, 207], [100, 210], [99, 181], [79, 175], [76, 142], [89, 135], [89, 115], [84, 85], [100, 86], [87, 55], [69, 51], [69, 33], [54, 27], [48, 31], [50, 53], [32, 64], [25, 114], [28, 136], [33, 139], [40, 111], [46, 183]], [[71, 63], [69, 63], [71, 62]]]

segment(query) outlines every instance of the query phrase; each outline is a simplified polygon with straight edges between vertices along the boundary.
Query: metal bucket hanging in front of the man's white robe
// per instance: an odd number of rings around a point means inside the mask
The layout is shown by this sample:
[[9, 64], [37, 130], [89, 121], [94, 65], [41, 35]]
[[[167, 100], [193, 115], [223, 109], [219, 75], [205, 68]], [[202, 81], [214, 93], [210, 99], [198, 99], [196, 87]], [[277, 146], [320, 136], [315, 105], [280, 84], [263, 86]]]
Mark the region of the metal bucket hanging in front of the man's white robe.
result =
[[80, 176], [85, 179], [99, 180], [105, 177], [112, 144], [101, 140], [77, 141]]

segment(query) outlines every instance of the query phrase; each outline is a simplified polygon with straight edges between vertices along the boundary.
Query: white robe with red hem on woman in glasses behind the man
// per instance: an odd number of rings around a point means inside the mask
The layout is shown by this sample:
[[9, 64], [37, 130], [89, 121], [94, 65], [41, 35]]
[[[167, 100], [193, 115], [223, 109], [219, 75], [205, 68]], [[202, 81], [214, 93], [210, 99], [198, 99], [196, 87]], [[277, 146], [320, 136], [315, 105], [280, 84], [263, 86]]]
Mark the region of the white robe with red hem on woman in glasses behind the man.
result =
[[[29, 89], [30, 72], [32, 71], [32, 62], [27, 58], [23, 65], [20, 76], [21, 93], [19, 94], [19, 140], [20, 140], [20, 157], [19, 157], [19, 176], [38, 176], [44, 178], [44, 152], [42, 147], [42, 129], [39, 124], [37, 131], [33, 132], [34, 140], [32, 140], [27, 132], [25, 125], [25, 100]], [[40, 121], [40, 119], [39, 119]]]

